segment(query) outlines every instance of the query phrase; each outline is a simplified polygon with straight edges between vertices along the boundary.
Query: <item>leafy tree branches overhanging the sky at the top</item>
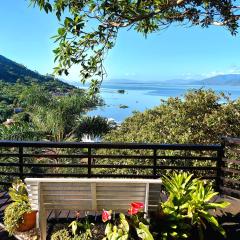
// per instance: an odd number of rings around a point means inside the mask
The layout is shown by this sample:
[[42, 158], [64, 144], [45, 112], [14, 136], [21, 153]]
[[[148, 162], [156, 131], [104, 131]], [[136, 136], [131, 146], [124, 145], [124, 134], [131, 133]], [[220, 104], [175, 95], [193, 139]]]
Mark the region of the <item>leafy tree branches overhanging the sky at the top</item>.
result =
[[55, 73], [68, 74], [80, 64], [82, 81], [92, 79], [98, 90], [104, 77], [103, 59], [121, 28], [134, 29], [145, 36], [173, 23], [225, 26], [232, 34], [239, 27], [239, 1], [233, 0], [29, 0], [45, 12], [54, 12], [61, 27], [54, 50], [58, 61]]

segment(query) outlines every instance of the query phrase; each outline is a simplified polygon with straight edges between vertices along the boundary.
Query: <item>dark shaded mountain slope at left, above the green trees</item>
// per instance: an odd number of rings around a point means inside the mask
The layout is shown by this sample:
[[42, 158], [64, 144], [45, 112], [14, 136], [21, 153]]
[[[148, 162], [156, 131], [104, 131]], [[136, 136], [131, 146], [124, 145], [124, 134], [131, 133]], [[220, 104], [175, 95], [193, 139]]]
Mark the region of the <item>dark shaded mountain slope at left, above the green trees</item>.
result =
[[55, 87], [73, 88], [73, 86], [64, 83], [54, 77], [41, 75], [36, 71], [32, 71], [22, 64], [16, 63], [2, 55], [0, 55], [0, 80], [7, 83], [45, 83]]

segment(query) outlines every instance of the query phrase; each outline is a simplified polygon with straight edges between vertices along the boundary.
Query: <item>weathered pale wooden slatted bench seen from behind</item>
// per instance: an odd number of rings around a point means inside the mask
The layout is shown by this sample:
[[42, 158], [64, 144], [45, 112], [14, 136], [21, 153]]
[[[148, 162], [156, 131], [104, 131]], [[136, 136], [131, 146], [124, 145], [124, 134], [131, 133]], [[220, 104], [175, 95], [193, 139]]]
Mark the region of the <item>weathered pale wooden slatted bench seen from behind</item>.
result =
[[38, 210], [41, 239], [46, 239], [48, 210], [126, 212], [131, 202], [143, 202], [144, 211], [159, 205], [160, 179], [26, 178], [29, 199]]

